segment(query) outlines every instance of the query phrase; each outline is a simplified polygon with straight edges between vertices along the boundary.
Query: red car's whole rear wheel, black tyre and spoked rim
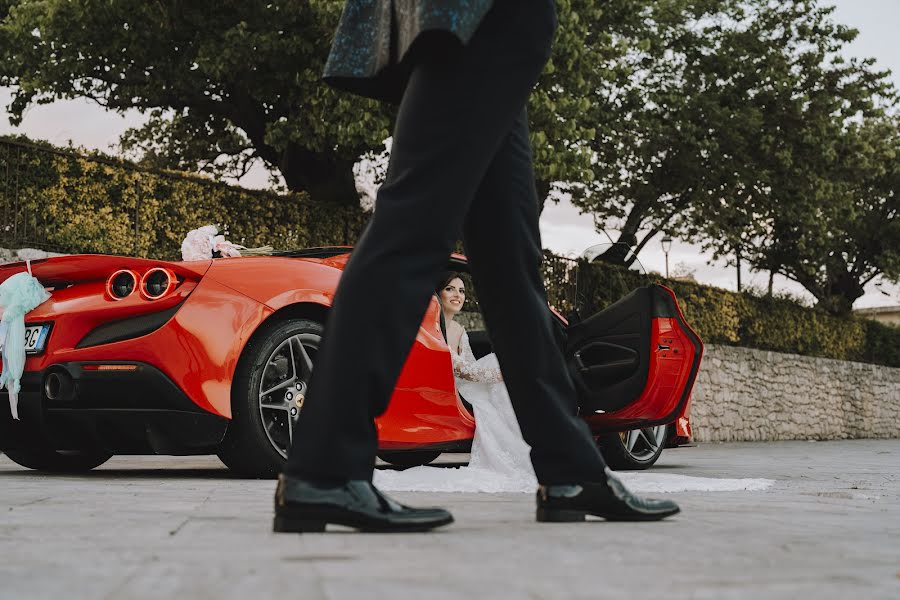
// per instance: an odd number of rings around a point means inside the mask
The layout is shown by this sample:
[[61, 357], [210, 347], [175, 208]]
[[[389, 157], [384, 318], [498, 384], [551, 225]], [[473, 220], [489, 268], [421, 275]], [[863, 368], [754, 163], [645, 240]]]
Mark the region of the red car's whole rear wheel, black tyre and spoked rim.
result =
[[[274, 321], [244, 347], [231, 385], [231, 422], [217, 451], [237, 475], [269, 479], [284, 467], [322, 330], [311, 319]], [[290, 357], [296, 358], [293, 365]]]

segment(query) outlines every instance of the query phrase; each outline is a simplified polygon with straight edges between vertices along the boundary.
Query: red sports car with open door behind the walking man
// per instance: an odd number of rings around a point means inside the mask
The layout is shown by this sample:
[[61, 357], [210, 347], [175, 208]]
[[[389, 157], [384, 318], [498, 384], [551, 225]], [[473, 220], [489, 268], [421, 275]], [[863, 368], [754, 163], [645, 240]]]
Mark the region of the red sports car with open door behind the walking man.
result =
[[[21, 420], [2, 392], [0, 450], [48, 471], [92, 469], [114, 454], [218, 454], [243, 475], [276, 474], [349, 252], [33, 261], [51, 298], [26, 315]], [[0, 282], [24, 268], [0, 267]], [[465, 257], [448, 268], [465, 272]], [[646, 468], [690, 438], [703, 346], [670, 290], [639, 288], [572, 325], [553, 315], [581, 414], [611, 465]], [[441, 319], [435, 298], [377, 420], [388, 462], [424, 464], [471, 444], [475, 419], [456, 392]], [[484, 332], [470, 338], [477, 356], [490, 351]]]

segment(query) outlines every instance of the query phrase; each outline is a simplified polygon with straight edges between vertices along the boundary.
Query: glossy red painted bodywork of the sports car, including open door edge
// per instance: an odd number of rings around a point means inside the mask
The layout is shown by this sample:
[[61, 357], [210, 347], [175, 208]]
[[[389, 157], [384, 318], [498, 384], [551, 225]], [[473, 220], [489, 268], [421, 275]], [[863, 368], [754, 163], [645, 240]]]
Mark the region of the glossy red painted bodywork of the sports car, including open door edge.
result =
[[[34, 261], [32, 271], [51, 288], [52, 297], [26, 315], [26, 324], [52, 323], [52, 328], [43, 352], [28, 357], [26, 373], [46, 373], [62, 363], [147, 364], [161, 371], [202, 411], [230, 418], [231, 383], [248, 340], [281, 311], [327, 312], [347, 258], [345, 253], [169, 262], [77, 255]], [[454, 258], [464, 260], [459, 255]], [[116, 271], [128, 269], [141, 276], [156, 267], [170, 269], [178, 278], [163, 297], [151, 300], [137, 292], [123, 299], [110, 295], [107, 283]], [[24, 268], [23, 263], [0, 267], [0, 282]], [[97, 328], [165, 310], [173, 310], [173, 316], [145, 335], [79, 347]], [[450, 350], [439, 319], [440, 307], [434, 299], [390, 406], [376, 420], [383, 449], [441, 447], [474, 435], [474, 417], [455, 391]], [[654, 336], [669, 349], [651, 365], [639, 400], [617, 412], [586, 418], [595, 432], [636, 427], [668, 416], [676, 423], [678, 436], [690, 436], [688, 404], [676, 392], [687, 385], [689, 395], [694, 348], [672, 319], [655, 319], [653, 327]]]

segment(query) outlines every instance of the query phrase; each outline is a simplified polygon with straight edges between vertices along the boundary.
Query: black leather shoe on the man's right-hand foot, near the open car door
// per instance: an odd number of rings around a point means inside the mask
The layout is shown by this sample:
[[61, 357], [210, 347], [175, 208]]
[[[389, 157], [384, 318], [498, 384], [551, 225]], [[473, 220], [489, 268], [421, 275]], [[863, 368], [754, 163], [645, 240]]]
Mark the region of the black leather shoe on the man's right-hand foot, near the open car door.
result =
[[540, 486], [537, 520], [565, 523], [584, 521], [585, 515], [594, 515], [607, 521], [658, 521], [681, 510], [671, 500], [635, 496], [609, 469], [606, 475], [606, 481]]

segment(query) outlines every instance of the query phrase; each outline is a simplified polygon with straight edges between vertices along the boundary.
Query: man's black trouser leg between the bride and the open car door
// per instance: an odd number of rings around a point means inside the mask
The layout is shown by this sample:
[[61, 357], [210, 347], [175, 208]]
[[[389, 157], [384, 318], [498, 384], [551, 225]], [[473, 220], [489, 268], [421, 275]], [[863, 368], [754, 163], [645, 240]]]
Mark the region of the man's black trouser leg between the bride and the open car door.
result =
[[481, 182], [464, 241], [478, 302], [538, 481], [602, 481], [605, 463], [576, 416], [540, 275], [539, 207], [525, 111]]

